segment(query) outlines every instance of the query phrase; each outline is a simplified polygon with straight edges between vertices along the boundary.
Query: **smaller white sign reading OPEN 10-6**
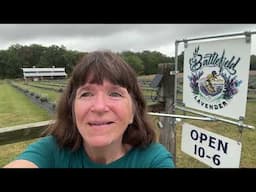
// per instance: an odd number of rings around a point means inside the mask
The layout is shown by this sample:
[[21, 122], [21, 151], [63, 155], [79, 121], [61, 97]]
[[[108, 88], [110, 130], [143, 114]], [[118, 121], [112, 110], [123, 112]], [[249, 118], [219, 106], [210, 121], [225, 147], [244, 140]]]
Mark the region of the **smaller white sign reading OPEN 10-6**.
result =
[[181, 150], [213, 168], [239, 168], [242, 143], [184, 123]]

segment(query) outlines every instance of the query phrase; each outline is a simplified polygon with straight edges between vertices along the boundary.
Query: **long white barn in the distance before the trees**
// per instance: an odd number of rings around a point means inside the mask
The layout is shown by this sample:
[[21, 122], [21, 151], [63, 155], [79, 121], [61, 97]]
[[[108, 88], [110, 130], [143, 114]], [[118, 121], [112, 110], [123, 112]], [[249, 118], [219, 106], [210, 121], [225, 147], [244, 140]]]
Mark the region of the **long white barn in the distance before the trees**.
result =
[[67, 76], [65, 68], [22, 68], [25, 80], [32, 79], [63, 79]]

